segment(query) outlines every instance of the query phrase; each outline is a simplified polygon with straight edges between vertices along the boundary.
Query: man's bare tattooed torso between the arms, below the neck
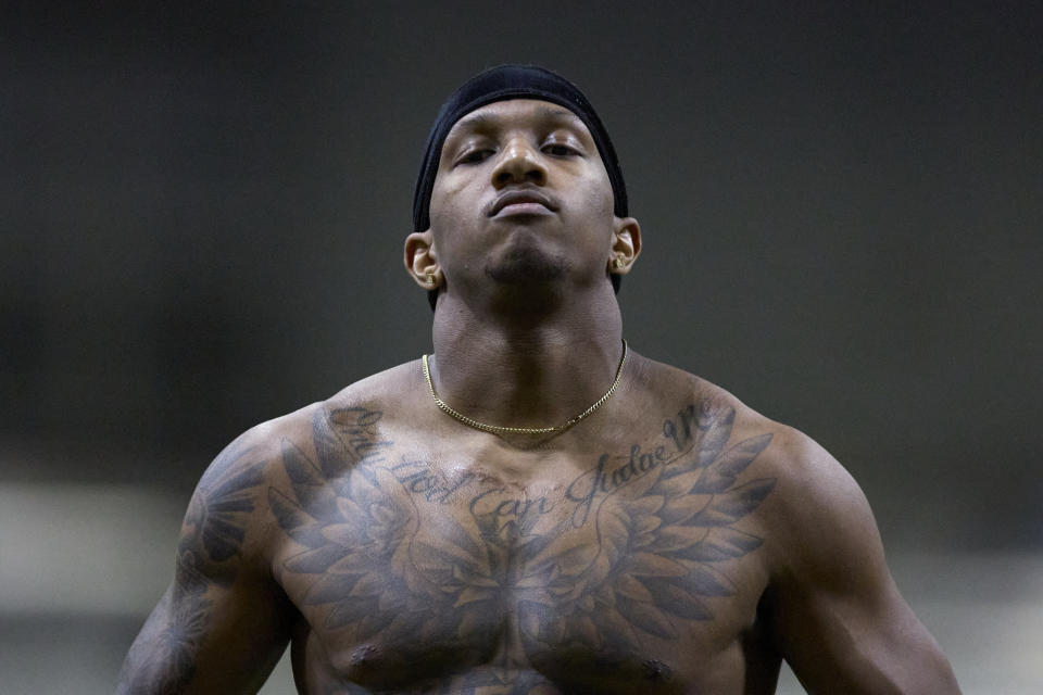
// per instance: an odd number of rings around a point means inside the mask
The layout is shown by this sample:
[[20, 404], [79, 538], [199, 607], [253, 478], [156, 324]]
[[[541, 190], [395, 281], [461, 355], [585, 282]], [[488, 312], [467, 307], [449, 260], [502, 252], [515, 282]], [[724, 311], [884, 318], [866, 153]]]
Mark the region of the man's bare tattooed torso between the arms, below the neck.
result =
[[774, 692], [771, 428], [641, 364], [541, 445], [400, 389], [416, 363], [298, 415], [264, 510], [302, 692]]

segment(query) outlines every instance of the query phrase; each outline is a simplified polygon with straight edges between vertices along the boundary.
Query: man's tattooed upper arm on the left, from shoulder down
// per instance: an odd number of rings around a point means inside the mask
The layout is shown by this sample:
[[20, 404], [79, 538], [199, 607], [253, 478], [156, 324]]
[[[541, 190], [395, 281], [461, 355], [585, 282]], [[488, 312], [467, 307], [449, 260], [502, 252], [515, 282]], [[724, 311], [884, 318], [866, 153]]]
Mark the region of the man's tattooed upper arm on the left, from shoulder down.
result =
[[208, 468], [181, 527], [174, 580], [127, 654], [116, 692], [255, 693], [291, 611], [264, 563], [264, 457], [250, 433]]

